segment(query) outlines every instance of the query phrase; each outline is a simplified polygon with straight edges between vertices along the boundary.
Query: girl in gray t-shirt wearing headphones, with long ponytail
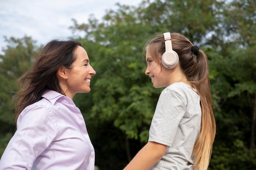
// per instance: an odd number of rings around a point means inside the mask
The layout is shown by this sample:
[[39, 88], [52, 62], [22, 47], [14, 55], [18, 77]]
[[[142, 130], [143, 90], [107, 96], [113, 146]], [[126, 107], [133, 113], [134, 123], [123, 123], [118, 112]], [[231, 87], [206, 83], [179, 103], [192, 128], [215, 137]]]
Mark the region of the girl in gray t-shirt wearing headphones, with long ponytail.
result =
[[124, 170], [207, 170], [216, 124], [207, 56], [179, 33], [146, 45], [146, 75], [166, 87], [157, 102], [148, 143]]

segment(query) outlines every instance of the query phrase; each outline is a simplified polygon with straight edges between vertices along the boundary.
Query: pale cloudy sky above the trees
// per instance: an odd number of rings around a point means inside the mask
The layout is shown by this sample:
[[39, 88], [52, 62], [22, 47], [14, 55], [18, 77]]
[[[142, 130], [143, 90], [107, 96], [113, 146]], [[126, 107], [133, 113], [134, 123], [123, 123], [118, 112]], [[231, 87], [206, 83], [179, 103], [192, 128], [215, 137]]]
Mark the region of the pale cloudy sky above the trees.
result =
[[46, 44], [52, 39], [79, 35], [69, 29], [72, 19], [88, 23], [91, 14], [101, 19], [116, 3], [137, 6], [142, 0], [0, 0], [0, 53], [7, 46], [4, 36], [25, 35]]

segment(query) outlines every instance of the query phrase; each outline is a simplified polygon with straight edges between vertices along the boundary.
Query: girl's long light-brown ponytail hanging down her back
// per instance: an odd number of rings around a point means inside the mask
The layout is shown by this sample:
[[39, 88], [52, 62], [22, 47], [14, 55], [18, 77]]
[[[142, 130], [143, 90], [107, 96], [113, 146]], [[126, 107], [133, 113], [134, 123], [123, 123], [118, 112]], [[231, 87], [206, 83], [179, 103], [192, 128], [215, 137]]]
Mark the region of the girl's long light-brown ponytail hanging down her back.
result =
[[209, 68], [206, 55], [200, 50], [197, 57], [198, 79], [191, 81], [192, 86], [198, 91], [202, 110], [201, 131], [192, 157], [194, 157], [193, 170], [207, 170], [211, 159], [213, 141], [216, 135], [216, 123], [211, 104], [211, 87], [209, 80]]

